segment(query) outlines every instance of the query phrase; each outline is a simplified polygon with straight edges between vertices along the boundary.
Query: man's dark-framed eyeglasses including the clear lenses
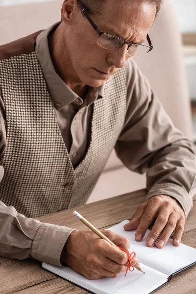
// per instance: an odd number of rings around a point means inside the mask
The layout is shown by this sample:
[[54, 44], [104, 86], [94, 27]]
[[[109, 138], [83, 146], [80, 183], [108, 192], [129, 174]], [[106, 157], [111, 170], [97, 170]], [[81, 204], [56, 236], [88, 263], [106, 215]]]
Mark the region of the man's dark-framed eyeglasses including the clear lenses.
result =
[[93, 22], [90, 15], [85, 10], [82, 2], [80, 0], [78, 0], [78, 3], [80, 5], [80, 8], [82, 9], [82, 12], [84, 13], [85, 17], [87, 18], [89, 23], [92, 25], [92, 27], [95, 29], [95, 31], [98, 33], [99, 37], [98, 37], [97, 44], [100, 47], [102, 47], [104, 49], [108, 49], [108, 50], [116, 50], [116, 49], [121, 48], [124, 44], [127, 44], [128, 45], [127, 54], [129, 56], [134, 56], [138, 48], [139, 48], [141, 54], [142, 54], [142, 51], [144, 51], [143, 53], [147, 53], [153, 49], [153, 45], [150, 41], [148, 34], [147, 34], [148, 45], [146, 45], [146, 44], [138, 44], [138, 43], [129, 43], [129, 42], [126, 42], [123, 39], [121, 39], [115, 35], [102, 32], [98, 28], [98, 26]]

